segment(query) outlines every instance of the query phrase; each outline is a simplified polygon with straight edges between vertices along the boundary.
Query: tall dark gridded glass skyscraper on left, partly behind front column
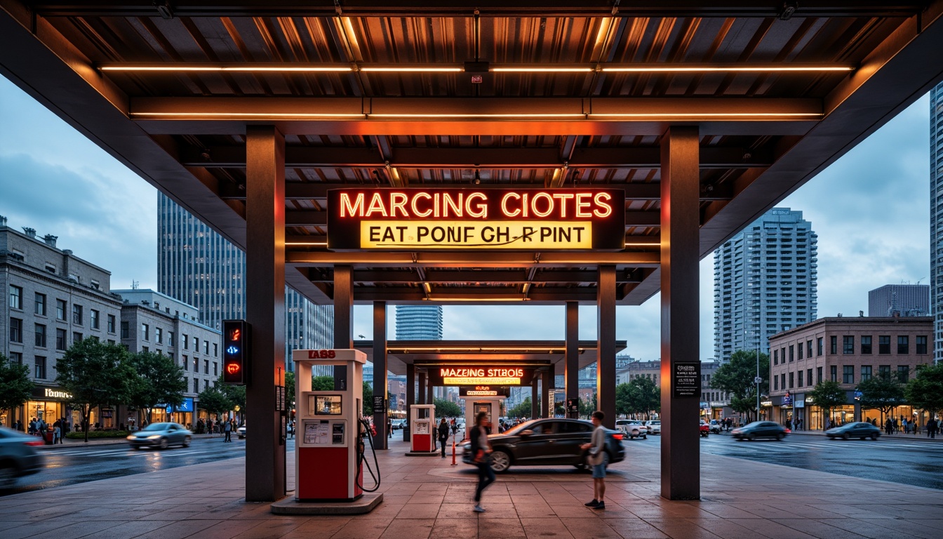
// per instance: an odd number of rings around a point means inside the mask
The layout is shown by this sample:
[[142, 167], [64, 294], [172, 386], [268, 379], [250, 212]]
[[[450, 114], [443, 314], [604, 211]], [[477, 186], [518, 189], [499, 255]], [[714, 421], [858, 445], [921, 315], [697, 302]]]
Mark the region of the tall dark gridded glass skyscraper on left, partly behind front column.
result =
[[[157, 290], [197, 307], [199, 322], [219, 329], [223, 320], [245, 318], [245, 285], [245, 253], [157, 194]], [[333, 347], [333, 328], [333, 306], [314, 305], [285, 287], [289, 369], [292, 349]]]

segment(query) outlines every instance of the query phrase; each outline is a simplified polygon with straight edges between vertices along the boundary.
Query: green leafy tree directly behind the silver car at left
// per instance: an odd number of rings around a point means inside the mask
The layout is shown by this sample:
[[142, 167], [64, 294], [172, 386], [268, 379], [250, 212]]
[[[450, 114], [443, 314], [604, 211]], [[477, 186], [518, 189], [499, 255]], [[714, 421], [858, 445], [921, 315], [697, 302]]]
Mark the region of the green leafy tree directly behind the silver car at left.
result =
[[187, 382], [183, 379], [183, 367], [169, 356], [156, 352], [131, 354], [128, 361], [136, 376], [130, 380], [128, 404], [147, 411], [147, 422], [151, 422], [152, 409], [157, 404], [180, 406]]

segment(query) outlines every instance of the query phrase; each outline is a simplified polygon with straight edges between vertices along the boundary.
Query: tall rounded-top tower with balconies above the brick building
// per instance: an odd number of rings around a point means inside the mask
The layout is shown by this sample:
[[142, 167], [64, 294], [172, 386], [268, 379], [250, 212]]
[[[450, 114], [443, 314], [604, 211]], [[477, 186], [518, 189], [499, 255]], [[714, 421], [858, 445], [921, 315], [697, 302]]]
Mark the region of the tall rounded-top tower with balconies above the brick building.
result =
[[816, 319], [818, 236], [774, 208], [714, 251], [714, 356], [769, 353], [770, 335]]

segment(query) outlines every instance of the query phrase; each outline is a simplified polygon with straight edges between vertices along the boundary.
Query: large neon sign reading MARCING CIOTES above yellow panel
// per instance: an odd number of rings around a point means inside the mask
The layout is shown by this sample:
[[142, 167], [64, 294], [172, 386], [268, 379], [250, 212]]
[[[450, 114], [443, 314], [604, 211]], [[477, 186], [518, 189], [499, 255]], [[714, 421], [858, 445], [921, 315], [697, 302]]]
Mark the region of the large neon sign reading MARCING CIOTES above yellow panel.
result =
[[327, 247], [620, 250], [619, 189], [363, 189], [327, 192]]

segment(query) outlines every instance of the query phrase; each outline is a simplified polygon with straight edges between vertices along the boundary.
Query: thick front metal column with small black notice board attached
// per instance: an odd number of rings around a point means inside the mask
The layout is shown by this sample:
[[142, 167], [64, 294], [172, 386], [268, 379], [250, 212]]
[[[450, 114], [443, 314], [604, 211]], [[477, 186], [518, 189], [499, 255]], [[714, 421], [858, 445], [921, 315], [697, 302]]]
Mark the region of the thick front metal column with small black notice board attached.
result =
[[670, 127], [661, 142], [661, 496], [701, 497], [699, 396], [673, 394], [674, 366], [700, 362], [701, 211], [698, 128]]

